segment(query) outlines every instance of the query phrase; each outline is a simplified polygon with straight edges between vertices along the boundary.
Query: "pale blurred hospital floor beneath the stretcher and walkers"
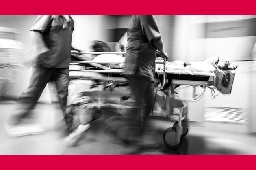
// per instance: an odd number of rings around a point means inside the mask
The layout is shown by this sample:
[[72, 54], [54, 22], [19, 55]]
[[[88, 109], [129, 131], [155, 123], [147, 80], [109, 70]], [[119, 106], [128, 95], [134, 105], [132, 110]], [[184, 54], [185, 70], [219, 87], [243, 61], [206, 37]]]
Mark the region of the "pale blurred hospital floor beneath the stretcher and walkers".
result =
[[54, 128], [56, 117], [51, 104], [38, 104], [35, 109], [37, 120], [46, 128], [45, 134], [9, 137], [4, 132], [4, 121], [14, 104], [0, 102], [0, 155], [256, 155], [256, 135], [208, 128], [196, 122], [190, 122], [180, 148], [168, 149], [163, 133], [174, 121], [163, 117], [150, 119], [152, 128], [145, 141], [156, 146], [154, 149], [137, 150], [104, 134], [104, 115], [91, 123], [91, 129], [76, 147], [65, 147]]

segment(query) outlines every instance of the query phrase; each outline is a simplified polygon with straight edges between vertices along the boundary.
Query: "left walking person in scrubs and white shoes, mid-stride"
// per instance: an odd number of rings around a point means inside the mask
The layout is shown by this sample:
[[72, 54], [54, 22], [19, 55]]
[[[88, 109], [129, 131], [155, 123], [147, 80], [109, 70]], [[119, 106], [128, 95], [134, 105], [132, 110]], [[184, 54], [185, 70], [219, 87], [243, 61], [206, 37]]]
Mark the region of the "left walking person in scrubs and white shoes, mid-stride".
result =
[[64, 139], [64, 144], [76, 144], [83, 132], [89, 129], [89, 124], [79, 125], [72, 132], [74, 108], [67, 106], [73, 31], [74, 21], [69, 15], [39, 15], [37, 17], [30, 29], [28, 53], [26, 54], [26, 62], [33, 66], [32, 74], [27, 90], [21, 94], [15, 111], [6, 122], [6, 133], [9, 136], [44, 132], [41, 126], [31, 124], [31, 121], [22, 124], [22, 119], [35, 108], [47, 83], [56, 86], [59, 103], [67, 124], [68, 136]]

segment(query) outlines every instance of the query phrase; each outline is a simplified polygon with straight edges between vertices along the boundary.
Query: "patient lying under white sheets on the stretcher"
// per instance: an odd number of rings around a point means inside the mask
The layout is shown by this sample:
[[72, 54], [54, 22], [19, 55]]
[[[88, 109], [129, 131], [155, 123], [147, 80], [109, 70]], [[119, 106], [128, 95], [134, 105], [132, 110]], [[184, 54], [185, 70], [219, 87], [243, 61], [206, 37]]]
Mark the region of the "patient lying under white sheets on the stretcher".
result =
[[[111, 47], [103, 41], [95, 40], [92, 44], [92, 50], [95, 52], [111, 52]], [[76, 50], [72, 48], [73, 50]], [[79, 52], [79, 50], [76, 50]], [[158, 56], [158, 55], [157, 55]], [[104, 70], [110, 69], [123, 69], [124, 68], [124, 60], [125, 57], [117, 54], [101, 54], [101, 55], [79, 55], [72, 53], [73, 58], [78, 58], [80, 61], [92, 61], [99, 63], [91, 63], [90, 65], [102, 68]], [[163, 61], [163, 58], [157, 57], [156, 62]], [[100, 62], [104, 62], [100, 64]], [[107, 63], [106, 63], [107, 62]], [[236, 65], [230, 64], [229, 61], [226, 61], [223, 65], [217, 65], [219, 62], [218, 57], [210, 57], [204, 61], [196, 61], [196, 62], [184, 62], [180, 60], [174, 60], [166, 63], [166, 71], [167, 73], [175, 70], [187, 72], [191, 74], [191, 72], [214, 72], [215, 67], [218, 67], [221, 70], [235, 70], [237, 68]], [[163, 70], [163, 64], [156, 64], [155, 68], [156, 72], [159, 70]]]

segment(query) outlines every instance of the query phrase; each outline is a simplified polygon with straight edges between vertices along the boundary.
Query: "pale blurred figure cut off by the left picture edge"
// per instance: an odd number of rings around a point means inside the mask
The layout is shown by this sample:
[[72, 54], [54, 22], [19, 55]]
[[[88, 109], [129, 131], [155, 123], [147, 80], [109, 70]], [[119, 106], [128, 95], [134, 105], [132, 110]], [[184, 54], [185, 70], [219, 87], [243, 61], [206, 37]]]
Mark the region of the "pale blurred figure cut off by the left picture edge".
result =
[[0, 27], [0, 100], [12, 89], [15, 72], [21, 66], [22, 43], [18, 30]]

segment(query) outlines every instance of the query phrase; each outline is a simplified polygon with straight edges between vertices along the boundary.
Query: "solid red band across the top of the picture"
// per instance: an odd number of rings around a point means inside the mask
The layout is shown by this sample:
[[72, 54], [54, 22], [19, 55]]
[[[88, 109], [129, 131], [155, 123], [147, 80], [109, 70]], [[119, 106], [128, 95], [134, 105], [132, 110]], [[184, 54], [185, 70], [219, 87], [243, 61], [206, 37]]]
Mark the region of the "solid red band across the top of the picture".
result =
[[3, 0], [0, 13], [255, 14], [255, 4], [255, 0]]

